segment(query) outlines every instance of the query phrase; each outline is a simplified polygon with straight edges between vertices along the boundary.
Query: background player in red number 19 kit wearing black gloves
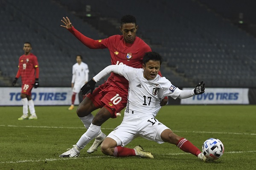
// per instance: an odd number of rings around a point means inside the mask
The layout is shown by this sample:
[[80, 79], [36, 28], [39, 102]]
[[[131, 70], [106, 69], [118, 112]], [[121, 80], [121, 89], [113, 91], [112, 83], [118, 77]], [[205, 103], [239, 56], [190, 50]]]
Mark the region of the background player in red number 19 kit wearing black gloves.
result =
[[[34, 86], [35, 88], [39, 87], [38, 60], [37, 57], [30, 52], [32, 50], [30, 42], [24, 43], [23, 50], [25, 54], [19, 58], [19, 68], [16, 77], [12, 82], [12, 85], [14, 86], [17, 79], [21, 76], [22, 86], [20, 97], [23, 104], [23, 115], [18, 120], [37, 119], [34, 102], [31, 98], [31, 91]], [[28, 116], [28, 108], [31, 114], [30, 116]]]

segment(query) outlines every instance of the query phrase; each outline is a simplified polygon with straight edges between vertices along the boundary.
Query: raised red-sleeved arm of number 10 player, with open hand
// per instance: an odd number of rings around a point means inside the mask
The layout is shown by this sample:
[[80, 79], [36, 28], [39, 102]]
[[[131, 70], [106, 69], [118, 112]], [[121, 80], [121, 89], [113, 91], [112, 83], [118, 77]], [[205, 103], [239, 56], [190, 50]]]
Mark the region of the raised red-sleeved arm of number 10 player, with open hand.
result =
[[104, 48], [102, 43], [99, 40], [93, 40], [91, 38], [88, 38], [81, 34], [81, 32], [77, 31], [70, 22], [68, 17], [63, 17], [63, 20], [61, 20], [62, 23], [64, 23], [64, 26], [61, 25], [61, 27], [66, 28], [68, 31], [70, 31], [78, 40], [80, 40], [84, 45], [86, 45], [88, 48], [92, 49], [98, 49], [98, 48]]

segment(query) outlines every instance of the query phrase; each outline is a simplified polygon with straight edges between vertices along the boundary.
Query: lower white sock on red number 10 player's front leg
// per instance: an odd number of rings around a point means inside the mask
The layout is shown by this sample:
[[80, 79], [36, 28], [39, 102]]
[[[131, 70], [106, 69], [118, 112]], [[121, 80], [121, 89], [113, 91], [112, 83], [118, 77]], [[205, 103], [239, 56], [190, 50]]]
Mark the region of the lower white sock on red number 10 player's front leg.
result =
[[93, 138], [101, 133], [100, 126], [91, 124], [88, 130], [81, 136], [76, 145], [80, 148], [84, 148]]

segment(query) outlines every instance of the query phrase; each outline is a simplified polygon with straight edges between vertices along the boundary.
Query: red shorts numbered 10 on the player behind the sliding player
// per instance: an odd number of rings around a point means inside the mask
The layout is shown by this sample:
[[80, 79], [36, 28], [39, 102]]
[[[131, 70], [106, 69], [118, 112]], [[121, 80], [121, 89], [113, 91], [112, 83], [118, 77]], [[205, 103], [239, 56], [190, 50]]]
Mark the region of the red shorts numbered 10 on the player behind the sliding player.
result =
[[116, 88], [107, 82], [100, 85], [88, 94], [87, 97], [93, 102], [96, 108], [105, 107], [111, 113], [111, 118], [116, 118], [116, 113], [122, 111], [127, 104], [127, 92]]

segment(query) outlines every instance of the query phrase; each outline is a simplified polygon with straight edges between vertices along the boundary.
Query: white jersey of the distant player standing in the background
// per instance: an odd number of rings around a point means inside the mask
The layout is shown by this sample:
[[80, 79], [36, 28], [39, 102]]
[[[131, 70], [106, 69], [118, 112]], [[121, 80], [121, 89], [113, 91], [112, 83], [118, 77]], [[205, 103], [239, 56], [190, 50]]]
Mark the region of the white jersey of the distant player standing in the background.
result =
[[78, 63], [73, 65], [72, 68], [72, 83], [75, 83], [77, 85], [85, 84], [88, 82], [88, 65], [84, 62], [81, 62], [80, 65]]

